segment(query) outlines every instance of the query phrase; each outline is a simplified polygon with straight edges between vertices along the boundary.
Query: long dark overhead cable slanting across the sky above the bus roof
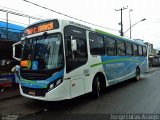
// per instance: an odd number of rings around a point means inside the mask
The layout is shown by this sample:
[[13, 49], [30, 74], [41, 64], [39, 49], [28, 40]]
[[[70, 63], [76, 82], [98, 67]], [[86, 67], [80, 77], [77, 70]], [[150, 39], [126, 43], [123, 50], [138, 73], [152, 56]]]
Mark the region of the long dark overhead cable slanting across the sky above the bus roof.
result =
[[46, 10], [49, 10], [51, 12], [54, 12], [54, 13], [57, 13], [57, 14], [60, 14], [60, 15], [63, 15], [65, 17], [68, 17], [68, 18], [71, 18], [71, 19], [74, 19], [74, 20], [77, 20], [77, 21], [80, 21], [80, 22], [84, 22], [84, 23], [87, 23], [87, 24], [90, 24], [90, 25], [94, 25], [94, 26], [97, 26], [97, 27], [101, 27], [101, 28], [105, 28], [105, 29], [109, 29], [109, 30], [113, 30], [113, 31], [119, 31], [119, 30], [116, 30], [116, 29], [112, 29], [112, 28], [108, 28], [108, 27], [103, 27], [103, 26], [100, 26], [100, 25], [96, 25], [94, 23], [91, 23], [91, 22], [87, 22], [87, 21], [84, 21], [82, 19], [78, 19], [78, 18], [75, 18], [75, 17], [72, 17], [72, 16], [69, 16], [67, 14], [64, 14], [64, 13], [61, 13], [61, 12], [58, 12], [58, 11], [55, 11], [53, 9], [50, 9], [50, 8], [47, 8], [47, 7], [44, 7], [44, 6], [41, 6], [39, 4], [36, 4], [36, 3], [33, 3], [33, 2], [30, 2], [28, 0], [23, 0], [24, 2], [27, 2], [27, 3], [30, 3], [32, 5], [35, 5], [37, 7], [40, 7], [40, 8], [43, 8], [43, 9], [46, 9]]

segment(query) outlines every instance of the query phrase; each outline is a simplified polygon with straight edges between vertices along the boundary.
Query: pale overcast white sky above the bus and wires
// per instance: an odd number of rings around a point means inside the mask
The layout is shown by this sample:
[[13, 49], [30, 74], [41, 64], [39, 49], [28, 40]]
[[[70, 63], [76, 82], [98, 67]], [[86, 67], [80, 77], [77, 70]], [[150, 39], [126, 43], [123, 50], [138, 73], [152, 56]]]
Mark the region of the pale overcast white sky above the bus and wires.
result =
[[[93, 28], [102, 29], [112, 34], [120, 35], [121, 26], [118, 24], [121, 21], [120, 9], [123, 10], [123, 31], [125, 32], [130, 27], [129, 11], [131, 17], [131, 25], [137, 23], [132, 27], [132, 39], [142, 39], [144, 42], [150, 42], [154, 48], [160, 49], [160, 1], [159, 0], [28, 0], [45, 6], [57, 12], [90, 22], [99, 26], [110, 29], [104, 29], [92, 26], [74, 19], [59, 15], [57, 13], [45, 10], [43, 8], [34, 6], [23, 0], [0, 0], [0, 9], [16, 10], [31, 16], [48, 18], [61, 18], [73, 20]], [[145, 21], [139, 22], [146, 18]], [[6, 19], [6, 13], [0, 12], [0, 20]], [[23, 26], [29, 24], [29, 19], [9, 14], [10, 21], [16, 21], [18, 24], [23, 23]], [[34, 23], [36, 20], [30, 20]], [[124, 36], [129, 38], [130, 32], [127, 31]]]

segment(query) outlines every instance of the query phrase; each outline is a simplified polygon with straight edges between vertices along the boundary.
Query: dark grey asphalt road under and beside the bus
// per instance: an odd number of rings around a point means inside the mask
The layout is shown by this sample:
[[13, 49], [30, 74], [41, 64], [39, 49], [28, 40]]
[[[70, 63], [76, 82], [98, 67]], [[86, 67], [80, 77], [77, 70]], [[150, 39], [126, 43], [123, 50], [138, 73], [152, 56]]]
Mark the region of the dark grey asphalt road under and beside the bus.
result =
[[112, 114], [160, 114], [159, 86], [160, 71], [155, 71], [142, 75], [138, 82], [129, 80], [108, 87], [99, 99], [86, 94], [71, 100], [42, 102], [19, 96], [0, 101], [0, 113], [17, 115], [21, 120], [100, 120]]

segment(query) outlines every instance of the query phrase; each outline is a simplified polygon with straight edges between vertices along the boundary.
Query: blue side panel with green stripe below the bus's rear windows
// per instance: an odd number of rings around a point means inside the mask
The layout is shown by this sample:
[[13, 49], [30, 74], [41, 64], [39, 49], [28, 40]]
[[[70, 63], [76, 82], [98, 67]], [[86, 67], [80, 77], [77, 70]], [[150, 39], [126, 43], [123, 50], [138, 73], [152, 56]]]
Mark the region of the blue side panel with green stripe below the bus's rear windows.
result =
[[133, 56], [102, 56], [102, 64], [110, 85], [135, 77], [137, 66], [141, 73], [147, 68], [144, 57]]

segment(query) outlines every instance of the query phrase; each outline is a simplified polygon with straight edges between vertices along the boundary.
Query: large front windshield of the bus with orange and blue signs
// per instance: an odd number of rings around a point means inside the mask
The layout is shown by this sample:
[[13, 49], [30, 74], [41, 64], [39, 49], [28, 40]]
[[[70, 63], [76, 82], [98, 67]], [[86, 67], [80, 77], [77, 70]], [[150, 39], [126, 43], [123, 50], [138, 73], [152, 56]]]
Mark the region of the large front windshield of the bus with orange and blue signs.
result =
[[[61, 34], [48, 34], [23, 41], [21, 68], [24, 70], [49, 70], [63, 66]], [[23, 65], [22, 62], [27, 62]]]

